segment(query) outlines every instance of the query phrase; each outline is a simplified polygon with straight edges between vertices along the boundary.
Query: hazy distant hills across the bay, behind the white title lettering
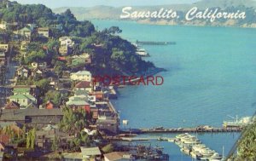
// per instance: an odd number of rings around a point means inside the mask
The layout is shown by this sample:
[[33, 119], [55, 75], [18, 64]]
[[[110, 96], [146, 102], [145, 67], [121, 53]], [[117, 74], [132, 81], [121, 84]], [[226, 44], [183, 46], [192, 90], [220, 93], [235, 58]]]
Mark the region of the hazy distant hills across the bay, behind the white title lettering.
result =
[[[255, 10], [256, 1], [254, 0], [201, 0], [197, 3], [191, 4], [170, 4], [170, 5], [158, 5], [158, 6], [132, 6], [132, 9], [137, 11], [154, 11], [161, 8], [173, 9], [179, 13], [184, 14], [191, 8], [197, 7], [198, 9], [207, 8], [220, 8], [222, 10], [246, 10], [250, 15], [246, 20], [219, 20], [215, 23], [208, 23], [202, 20], [194, 20], [186, 22], [184, 20], [137, 20], [141, 23], [153, 23], [160, 25], [200, 25], [200, 26], [256, 26]], [[92, 20], [92, 19], [103, 19], [103, 20], [119, 20], [119, 15], [122, 13], [123, 7], [110, 7], [110, 6], [96, 6], [91, 8], [59, 8], [53, 9], [55, 13], [62, 13], [67, 9], [71, 9], [73, 14], [78, 20]], [[253, 13], [253, 15], [252, 15]], [[253, 21], [252, 21], [253, 20]], [[254, 24], [255, 21], [255, 24]], [[202, 22], [202, 23], [201, 23]]]

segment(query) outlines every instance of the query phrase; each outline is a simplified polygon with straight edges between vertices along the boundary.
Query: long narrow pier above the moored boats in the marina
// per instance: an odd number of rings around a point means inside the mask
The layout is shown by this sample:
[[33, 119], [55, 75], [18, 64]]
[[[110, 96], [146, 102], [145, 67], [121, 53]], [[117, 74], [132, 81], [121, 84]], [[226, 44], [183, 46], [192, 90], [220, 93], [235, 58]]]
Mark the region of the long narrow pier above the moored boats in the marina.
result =
[[174, 129], [120, 129], [120, 134], [150, 134], [150, 133], [230, 133], [230, 132], [241, 132], [241, 127], [232, 128], [174, 128]]

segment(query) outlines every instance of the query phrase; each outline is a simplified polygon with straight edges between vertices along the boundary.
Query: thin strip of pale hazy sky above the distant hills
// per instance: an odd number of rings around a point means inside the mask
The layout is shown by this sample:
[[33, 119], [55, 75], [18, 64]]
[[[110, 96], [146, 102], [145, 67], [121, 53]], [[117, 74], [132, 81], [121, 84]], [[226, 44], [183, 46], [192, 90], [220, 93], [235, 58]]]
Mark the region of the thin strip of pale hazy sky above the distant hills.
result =
[[199, 0], [16, 0], [18, 3], [41, 3], [51, 9], [59, 7], [91, 7], [96, 5], [135, 6], [171, 3], [194, 3]]

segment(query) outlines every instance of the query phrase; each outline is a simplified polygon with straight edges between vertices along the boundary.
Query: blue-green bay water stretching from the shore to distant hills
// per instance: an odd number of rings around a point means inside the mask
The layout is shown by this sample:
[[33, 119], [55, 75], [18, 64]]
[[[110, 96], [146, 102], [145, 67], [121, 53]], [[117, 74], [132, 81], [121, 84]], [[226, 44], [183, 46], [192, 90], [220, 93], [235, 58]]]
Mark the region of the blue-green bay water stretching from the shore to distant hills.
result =
[[[223, 121], [251, 116], [256, 102], [256, 32], [231, 27], [153, 26], [131, 21], [94, 20], [99, 29], [119, 26], [135, 42], [174, 41], [176, 45], [143, 46], [167, 72], [161, 86], [119, 89], [113, 101], [128, 128], [222, 126]], [[171, 135], [172, 136], [172, 135]], [[199, 135], [208, 147], [225, 154], [238, 134]], [[160, 142], [172, 160], [191, 160], [174, 144]]]

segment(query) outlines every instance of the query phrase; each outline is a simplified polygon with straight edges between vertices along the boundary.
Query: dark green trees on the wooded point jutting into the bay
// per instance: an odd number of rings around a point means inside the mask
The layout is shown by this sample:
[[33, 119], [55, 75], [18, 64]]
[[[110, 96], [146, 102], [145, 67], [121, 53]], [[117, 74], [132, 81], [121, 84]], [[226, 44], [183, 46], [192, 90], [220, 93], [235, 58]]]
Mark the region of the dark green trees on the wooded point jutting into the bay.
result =
[[[90, 70], [93, 74], [142, 74], [153, 63], [142, 60], [136, 53], [136, 47], [130, 42], [116, 35], [121, 32], [119, 27], [113, 26], [102, 32], [95, 32], [82, 40], [80, 49], [88, 52], [92, 58]], [[99, 44], [95, 47], [92, 44]], [[103, 69], [103, 70], [102, 70]]]

